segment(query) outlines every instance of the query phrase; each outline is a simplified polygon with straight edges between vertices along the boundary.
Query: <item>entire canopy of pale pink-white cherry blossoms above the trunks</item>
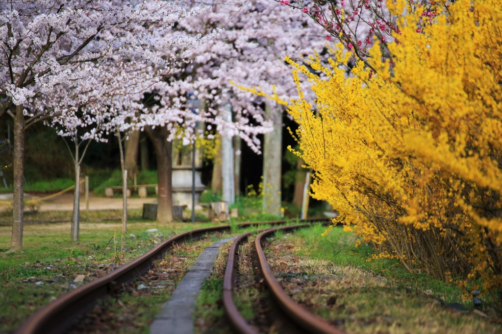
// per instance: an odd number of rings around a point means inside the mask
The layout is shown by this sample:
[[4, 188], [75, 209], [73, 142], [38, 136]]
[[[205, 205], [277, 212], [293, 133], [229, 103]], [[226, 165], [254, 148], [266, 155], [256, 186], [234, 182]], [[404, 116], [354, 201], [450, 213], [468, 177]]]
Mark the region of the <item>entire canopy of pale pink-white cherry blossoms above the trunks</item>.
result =
[[[260, 150], [273, 118], [231, 82], [296, 96], [285, 56], [325, 47], [310, 18], [269, 0], [10, 0], [0, 3], [0, 115], [23, 105], [62, 136], [105, 140], [165, 126], [189, 143], [205, 122]], [[145, 96], [151, 101], [145, 102]], [[193, 99], [207, 101], [194, 109]], [[232, 115], [223, 106], [230, 103]], [[183, 131], [178, 131], [182, 128]]]

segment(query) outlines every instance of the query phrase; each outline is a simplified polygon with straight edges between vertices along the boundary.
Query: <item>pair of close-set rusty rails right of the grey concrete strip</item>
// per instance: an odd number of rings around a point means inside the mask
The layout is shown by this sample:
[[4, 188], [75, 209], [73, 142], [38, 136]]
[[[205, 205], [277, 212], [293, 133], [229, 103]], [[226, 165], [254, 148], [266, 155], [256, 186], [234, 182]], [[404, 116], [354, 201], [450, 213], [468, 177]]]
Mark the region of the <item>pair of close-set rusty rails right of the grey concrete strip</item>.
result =
[[[275, 317], [281, 317], [280, 322], [282, 323], [283, 328], [279, 329], [279, 331], [288, 333], [345, 333], [343, 330], [329, 324], [324, 319], [318, 317], [305, 307], [295, 302], [281, 287], [267, 263], [267, 258], [262, 246], [267, 237], [273, 236], [277, 231], [288, 231], [308, 226], [308, 224], [303, 224], [271, 228], [260, 233], [255, 239], [255, 251], [259, 271], [266, 283], [269, 295], [274, 299], [274, 307], [281, 310], [281, 312], [276, 311], [274, 314]], [[249, 232], [238, 236], [230, 246], [228, 262], [223, 280], [223, 305], [225, 307], [226, 314], [228, 315], [232, 326], [238, 332], [243, 334], [258, 333], [258, 330], [250, 325], [249, 322], [239, 313], [233, 300], [233, 293], [236, 291], [236, 285], [238, 284], [237, 266], [239, 262], [239, 245], [243, 244], [250, 235], [252, 235], [252, 233]]]

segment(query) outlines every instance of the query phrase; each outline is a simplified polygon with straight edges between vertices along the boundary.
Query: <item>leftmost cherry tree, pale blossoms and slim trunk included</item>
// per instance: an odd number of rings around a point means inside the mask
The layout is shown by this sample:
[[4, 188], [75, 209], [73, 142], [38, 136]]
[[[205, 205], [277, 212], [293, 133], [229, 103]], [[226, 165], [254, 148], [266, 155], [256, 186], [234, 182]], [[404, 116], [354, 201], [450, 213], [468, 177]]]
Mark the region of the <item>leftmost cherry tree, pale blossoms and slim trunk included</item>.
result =
[[[7, 113], [14, 118], [15, 138], [10, 251], [22, 251], [24, 131], [54, 117], [84, 127], [99, 123], [95, 113], [78, 115], [89, 106], [102, 110], [106, 105], [95, 94], [103, 82], [93, 82], [96, 77], [84, 74], [95, 74], [95, 70], [102, 74], [106, 67], [99, 64], [124, 65], [123, 60], [156, 68], [169, 66], [176, 60], [176, 53], [170, 50], [186, 49], [201, 38], [172, 35], [171, 24], [203, 10], [155, 0], [11, 0], [0, 4], [0, 116]], [[109, 110], [138, 107], [131, 96], [136, 89], [129, 91], [126, 83], [114, 82], [126, 88], [120, 108], [111, 105]], [[101, 103], [93, 104], [95, 101], [85, 101], [85, 97], [81, 98], [85, 103], [73, 100], [82, 92], [94, 94]], [[99, 131], [90, 130], [86, 135], [99, 138]], [[78, 155], [75, 157], [78, 161]]]

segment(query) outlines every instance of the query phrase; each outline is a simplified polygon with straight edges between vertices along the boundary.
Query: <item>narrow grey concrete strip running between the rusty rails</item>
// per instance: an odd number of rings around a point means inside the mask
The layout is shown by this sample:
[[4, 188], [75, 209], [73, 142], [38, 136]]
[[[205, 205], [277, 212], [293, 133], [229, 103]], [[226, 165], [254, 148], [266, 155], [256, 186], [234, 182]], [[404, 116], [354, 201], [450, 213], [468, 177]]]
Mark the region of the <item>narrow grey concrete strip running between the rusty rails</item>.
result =
[[213, 269], [219, 248], [234, 238], [222, 239], [206, 248], [150, 324], [150, 334], [193, 334], [193, 312], [200, 288]]

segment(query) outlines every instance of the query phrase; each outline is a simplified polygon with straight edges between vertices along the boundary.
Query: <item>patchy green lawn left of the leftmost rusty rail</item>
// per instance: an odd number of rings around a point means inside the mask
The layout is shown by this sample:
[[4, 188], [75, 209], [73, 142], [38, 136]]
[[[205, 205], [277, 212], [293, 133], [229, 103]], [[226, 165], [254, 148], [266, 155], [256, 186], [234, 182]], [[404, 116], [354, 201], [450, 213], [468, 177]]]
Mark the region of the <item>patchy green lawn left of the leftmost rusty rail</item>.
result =
[[[18, 327], [37, 308], [82, 283], [145, 253], [173, 233], [214, 224], [129, 222], [81, 223], [80, 241], [70, 241], [70, 224], [26, 225], [24, 253], [0, 254], [0, 332]], [[148, 229], [158, 229], [147, 233]], [[10, 247], [11, 228], [0, 226], [0, 251]], [[92, 276], [88, 276], [92, 273]]]

